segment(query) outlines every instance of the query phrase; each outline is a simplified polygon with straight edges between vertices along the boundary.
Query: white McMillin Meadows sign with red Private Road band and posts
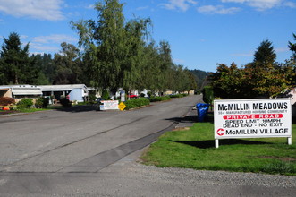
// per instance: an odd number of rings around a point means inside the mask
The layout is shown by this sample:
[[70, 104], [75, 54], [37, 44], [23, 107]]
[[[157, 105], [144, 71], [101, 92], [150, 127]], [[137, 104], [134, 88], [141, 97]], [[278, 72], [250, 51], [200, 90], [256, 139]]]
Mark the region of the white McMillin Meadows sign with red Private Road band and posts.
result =
[[286, 137], [292, 144], [290, 99], [215, 100], [215, 146], [220, 139]]

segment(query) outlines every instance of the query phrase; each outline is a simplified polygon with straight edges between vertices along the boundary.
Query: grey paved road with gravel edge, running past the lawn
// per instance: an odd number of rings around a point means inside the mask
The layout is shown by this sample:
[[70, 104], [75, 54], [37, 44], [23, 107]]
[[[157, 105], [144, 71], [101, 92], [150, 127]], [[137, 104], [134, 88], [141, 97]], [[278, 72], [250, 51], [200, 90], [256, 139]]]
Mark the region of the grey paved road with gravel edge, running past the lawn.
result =
[[135, 162], [199, 99], [173, 99], [128, 112], [74, 108], [0, 116], [0, 196], [293, 196], [295, 176]]

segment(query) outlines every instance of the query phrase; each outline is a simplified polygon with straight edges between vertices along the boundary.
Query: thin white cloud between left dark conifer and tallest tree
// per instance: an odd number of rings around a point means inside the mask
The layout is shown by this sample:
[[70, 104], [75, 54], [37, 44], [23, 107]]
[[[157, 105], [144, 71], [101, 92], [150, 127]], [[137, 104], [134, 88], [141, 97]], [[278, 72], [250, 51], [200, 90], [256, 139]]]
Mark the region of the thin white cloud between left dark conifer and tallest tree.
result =
[[43, 44], [47, 44], [47, 43], [62, 43], [62, 42], [77, 42], [78, 39], [74, 38], [72, 36], [67, 36], [67, 35], [63, 35], [63, 34], [53, 34], [53, 35], [49, 35], [49, 36], [39, 36], [39, 37], [35, 37], [32, 42], [34, 43], [43, 43]]

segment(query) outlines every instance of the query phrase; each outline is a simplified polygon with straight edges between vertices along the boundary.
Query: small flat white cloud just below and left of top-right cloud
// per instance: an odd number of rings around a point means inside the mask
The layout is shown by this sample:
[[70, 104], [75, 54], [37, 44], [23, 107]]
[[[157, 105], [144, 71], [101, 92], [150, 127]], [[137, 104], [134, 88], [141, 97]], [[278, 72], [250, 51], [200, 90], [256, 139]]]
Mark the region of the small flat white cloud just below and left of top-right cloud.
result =
[[205, 5], [198, 8], [199, 13], [207, 14], [233, 14], [238, 13], [241, 9], [238, 7], [224, 8], [222, 5]]

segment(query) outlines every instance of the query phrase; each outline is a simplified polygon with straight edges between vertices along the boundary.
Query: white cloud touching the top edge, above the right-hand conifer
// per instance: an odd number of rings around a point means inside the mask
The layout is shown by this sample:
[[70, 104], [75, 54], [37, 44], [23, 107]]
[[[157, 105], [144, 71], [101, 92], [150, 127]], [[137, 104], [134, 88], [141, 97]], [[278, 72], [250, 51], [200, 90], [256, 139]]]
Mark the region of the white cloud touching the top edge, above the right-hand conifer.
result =
[[221, 0], [223, 3], [240, 3], [255, 7], [258, 11], [264, 11], [276, 6], [296, 7], [295, 3], [286, 0]]

